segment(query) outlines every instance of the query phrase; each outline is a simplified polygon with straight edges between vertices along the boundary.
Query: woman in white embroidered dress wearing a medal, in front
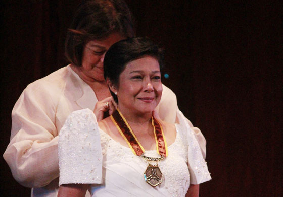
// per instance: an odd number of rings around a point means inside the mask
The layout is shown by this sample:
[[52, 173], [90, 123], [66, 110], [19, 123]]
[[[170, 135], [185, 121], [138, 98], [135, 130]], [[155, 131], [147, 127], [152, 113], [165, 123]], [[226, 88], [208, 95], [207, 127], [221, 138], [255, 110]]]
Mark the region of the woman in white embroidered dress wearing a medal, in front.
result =
[[58, 196], [198, 196], [211, 177], [193, 130], [180, 111], [175, 125], [154, 112], [162, 67], [162, 50], [147, 38], [110, 47], [104, 77], [118, 108], [99, 122], [89, 109], [69, 115], [59, 137]]

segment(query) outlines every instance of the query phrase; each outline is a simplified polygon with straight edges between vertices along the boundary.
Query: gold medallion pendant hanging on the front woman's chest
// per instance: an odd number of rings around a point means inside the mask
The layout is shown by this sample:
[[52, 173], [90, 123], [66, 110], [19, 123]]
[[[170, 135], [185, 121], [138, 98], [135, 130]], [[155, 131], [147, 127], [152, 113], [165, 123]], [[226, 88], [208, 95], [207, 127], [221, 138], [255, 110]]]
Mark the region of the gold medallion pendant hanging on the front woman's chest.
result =
[[158, 167], [158, 164], [149, 164], [144, 173], [144, 177], [145, 181], [153, 187], [156, 187], [162, 183], [162, 173]]

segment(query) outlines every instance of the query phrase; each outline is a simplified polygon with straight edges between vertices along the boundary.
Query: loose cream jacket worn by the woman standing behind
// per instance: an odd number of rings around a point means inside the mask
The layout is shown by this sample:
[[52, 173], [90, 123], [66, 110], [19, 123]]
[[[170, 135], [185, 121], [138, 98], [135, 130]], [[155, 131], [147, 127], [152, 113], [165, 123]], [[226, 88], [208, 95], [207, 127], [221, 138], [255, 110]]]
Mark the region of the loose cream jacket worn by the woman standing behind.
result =
[[[93, 111], [97, 102], [95, 92], [70, 65], [23, 91], [12, 110], [11, 139], [3, 157], [16, 181], [32, 187], [31, 196], [57, 196], [59, 131], [71, 112]], [[178, 121], [176, 96], [164, 85], [157, 110], [164, 121]], [[194, 132], [205, 157], [205, 138], [198, 128]]]

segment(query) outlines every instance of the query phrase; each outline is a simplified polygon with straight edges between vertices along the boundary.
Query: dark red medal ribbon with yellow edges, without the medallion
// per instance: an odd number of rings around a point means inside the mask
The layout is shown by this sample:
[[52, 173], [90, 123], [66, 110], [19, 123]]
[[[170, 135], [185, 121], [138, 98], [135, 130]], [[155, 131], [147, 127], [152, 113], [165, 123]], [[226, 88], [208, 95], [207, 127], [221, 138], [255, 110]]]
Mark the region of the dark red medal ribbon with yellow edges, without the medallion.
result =
[[[110, 116], [110, 118], [113, 121], [113, 123], [116, 125], [122, 137], [127, 142], [132, 152], [138, 156], [143, 154], [145, 152], [144, 147], [141, 146], [141, 144], [138, 142], [130, 125], [128, 124], [127, 120], [124, 118], [122, 113], [119, 111], [119, 109], [117, 109]], [[165, 140], [164, 132], [160, 123], [153, 116], [152, 116], [152, 125], [154, 127], [153, 132], [156, 141], [157, 153], [166, 157], [168, 153], [168, 149], [167, 149], [167, 143]]]

